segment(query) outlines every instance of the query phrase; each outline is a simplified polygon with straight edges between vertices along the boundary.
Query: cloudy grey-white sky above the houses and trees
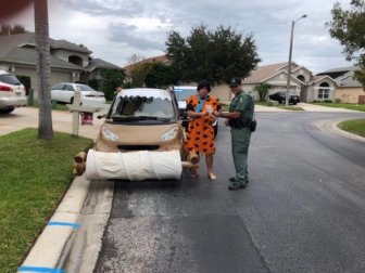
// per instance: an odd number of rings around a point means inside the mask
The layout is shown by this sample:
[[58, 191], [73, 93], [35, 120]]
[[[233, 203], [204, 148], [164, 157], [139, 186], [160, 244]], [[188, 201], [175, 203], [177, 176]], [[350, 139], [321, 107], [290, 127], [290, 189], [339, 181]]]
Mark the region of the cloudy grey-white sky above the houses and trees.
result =
[[[288, 62], [291, 22], [295, 23], [292, 61], [314, 74], [350, 66], [342, 47], [330, 38], [332, 0], [49, 0], [50, 37], [83, 43], [100, 57], [125, 66], [133, 54], [144, 57], [164, 54], [171, 30], [182, 37], [201, 23], [214, 30], [231, 26], [243, 36], [253, 34], [259, 65]], [[338, 1], [349, 8], [350, 1]], [[14, 22], [34, 30], [33, 10]]]

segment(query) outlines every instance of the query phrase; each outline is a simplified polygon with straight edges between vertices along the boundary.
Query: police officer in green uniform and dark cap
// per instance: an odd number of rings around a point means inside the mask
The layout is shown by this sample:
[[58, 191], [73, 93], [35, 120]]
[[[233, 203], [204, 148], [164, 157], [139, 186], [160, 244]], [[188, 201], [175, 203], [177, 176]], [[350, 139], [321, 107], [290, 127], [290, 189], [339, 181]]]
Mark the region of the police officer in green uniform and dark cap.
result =
[[249, 126], [253, 119], [254, 103], [252, 96], [243, 92], [240, 78], [232, 78], [229, 88], [235, 94], [229, 105], [229, 113], [215, 112], [214, 115], [226, 118], [225, 123], [230, 126], [236, 177], [229, 179], [231, 183], [228, 188], [236, 191], [244, 188], [249, 183], [248, 154], [251, 138]]

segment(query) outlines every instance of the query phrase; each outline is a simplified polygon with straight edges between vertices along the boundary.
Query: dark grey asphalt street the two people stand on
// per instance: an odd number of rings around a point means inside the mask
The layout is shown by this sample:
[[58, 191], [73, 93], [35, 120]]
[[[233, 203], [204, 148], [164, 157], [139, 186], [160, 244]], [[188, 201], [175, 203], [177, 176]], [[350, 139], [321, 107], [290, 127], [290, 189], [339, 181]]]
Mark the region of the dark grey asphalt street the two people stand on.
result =
[[257, 113], [246, 190], [224, 126], [216, 181], [116, 181], [95, 272], [365, 272], [365, 143], [320, 126], [356, 117]]

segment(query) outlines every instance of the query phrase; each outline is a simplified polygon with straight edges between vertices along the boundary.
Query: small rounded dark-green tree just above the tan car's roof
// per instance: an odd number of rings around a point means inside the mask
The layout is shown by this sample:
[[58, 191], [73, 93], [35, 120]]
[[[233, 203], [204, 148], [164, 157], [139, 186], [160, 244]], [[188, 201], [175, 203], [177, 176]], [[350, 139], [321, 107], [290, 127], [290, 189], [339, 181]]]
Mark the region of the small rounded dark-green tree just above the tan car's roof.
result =
[[165, 88], [176, 83], [176, 79], [169, 65], [155, 62], [151, 63], [144, 82], [148, 88]]

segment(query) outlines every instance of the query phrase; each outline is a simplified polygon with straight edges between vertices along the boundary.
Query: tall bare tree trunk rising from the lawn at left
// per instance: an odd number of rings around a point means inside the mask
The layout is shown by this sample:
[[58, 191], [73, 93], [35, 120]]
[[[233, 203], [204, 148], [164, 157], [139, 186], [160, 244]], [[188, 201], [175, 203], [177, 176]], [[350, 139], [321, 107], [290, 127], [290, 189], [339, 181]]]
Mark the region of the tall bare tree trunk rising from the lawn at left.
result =
[[39, 99], [38, 138], [52, 139], [51, 55], [47, 0], [34, 1]]

